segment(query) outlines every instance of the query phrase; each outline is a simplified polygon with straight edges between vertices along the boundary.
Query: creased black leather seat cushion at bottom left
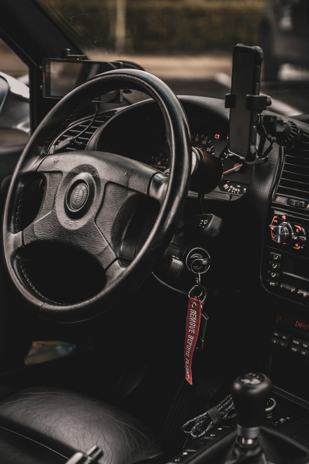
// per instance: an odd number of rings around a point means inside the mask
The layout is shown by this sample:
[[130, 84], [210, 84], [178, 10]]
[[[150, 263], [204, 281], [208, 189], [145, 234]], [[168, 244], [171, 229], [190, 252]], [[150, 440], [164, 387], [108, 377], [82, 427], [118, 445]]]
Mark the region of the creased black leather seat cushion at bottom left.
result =
[[132, 464], [160, 458], [150, 430], [114, 406], [57, 388], [33, 387], [0, 401], [0, 463], [65, 463], [93, 445], [100, 463]]

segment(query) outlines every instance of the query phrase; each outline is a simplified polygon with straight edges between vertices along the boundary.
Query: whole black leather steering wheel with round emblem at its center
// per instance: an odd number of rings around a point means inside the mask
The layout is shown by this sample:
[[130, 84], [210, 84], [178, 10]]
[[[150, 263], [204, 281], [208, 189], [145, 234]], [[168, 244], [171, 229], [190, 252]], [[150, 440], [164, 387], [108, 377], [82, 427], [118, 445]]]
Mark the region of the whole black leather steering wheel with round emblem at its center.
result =
[[[81, 150], [48, 155], [50, 142], [86, 104], [120, 89], [140, 90], [158, 103], [170, 146], [169, 175], [106, 152]], [[80, 84], [44, 117], [13, 172], [3, 217], [4, 262], [13, 286], [40, 316], [56, 322], [87, 320], [110, 309], [145, 281], [170, 243], [187, 198], [190, 166], [187, 117], [177, 96], [158, 77], [122, 69]], [[35, 219], [23, 228], [20, 218], [25, 185], [36, 177], [44, 181], [43, 199]], [[127, 226], [128, 208], [134, 209], [141, 198], [156, 214], [149, 226], [143, 224], [143, 214], [137, 215], [134, 210], [133, 222], [139, 225], [134, 233]], [[126, 233], [127, 229], [130, 232]], [[102, 289], [83, 301], [64, 304], [37, 289], [25, 269], [25, 251], [50, 243], [73, 247], [76, 253], [86, 252], [95, 258], [104, 271]], [[68, 267], [68, 272], [72, 271]], [[82, 285], [82, 273], [87, 269], [79, 271]]]

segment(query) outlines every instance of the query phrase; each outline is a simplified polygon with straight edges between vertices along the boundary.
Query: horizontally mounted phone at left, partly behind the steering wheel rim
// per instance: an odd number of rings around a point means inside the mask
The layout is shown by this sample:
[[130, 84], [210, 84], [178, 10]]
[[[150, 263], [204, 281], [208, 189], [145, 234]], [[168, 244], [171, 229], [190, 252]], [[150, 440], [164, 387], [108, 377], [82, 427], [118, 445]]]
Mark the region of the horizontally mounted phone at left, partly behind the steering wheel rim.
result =
[[[90, 77], [113, 69], [121, 69], [121, 61], [91, 61], [86, 59], [45, 58], [43, 60], [43, 97], [64, 97], [78, 84]], [[122, 90], [115, 90], [101, 95], [94, 100], [101, 103], [122, 102]]]

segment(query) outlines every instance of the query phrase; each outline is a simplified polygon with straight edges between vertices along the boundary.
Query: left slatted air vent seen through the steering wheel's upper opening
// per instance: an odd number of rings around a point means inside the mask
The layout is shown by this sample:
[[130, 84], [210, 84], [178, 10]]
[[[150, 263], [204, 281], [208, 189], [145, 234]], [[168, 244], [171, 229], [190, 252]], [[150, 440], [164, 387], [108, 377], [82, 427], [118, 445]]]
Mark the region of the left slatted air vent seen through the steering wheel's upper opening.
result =
[[[72, 151], [72, 150], [85, 150], [87, 144], [91, 138], [91, 136], [95, 133], [95, 131], [104, 123], [106, 122], [111, 116], [113, 116], [114, 112], [109, 112], [98, 115], [95, 121], [91, 124], [91, 126], [84, 132], [80, 137], [77, 138], [76, 142], [71, 142], [67, 145], [63, 151]], [[69, 137], [74, 137], [80, 134], [89, 123], [92, 121], [92, 117], [88, 117], [87, 119], [82, 119], [77, 122], [73, 122], [69, 127], [62, 132], [57, 139], [50, 145], [49, 152], [52, 152], [52, 147], [57, 145], [60, 142], [68, 139]]]

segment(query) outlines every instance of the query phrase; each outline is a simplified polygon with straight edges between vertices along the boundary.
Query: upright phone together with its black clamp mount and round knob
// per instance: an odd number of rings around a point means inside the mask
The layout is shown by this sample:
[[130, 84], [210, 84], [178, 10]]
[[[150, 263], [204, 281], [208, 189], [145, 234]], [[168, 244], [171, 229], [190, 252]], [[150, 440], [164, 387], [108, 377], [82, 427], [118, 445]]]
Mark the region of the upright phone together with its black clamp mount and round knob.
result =
[[[231, 93], [225, 96], [225, 107], [230, 108], [230, 156], [249, 165], [265, 163], [274, 142], [293, 145], [300, 139], [300, 130], [295, 122], [284, 121], [281, 116], [262, 114], [271, 106], [271, 97], [259, 95], [262, 61], [263, 50], [259, 46], [236, 45]], [[265, 149], [266, 142], [269, 145]]]

